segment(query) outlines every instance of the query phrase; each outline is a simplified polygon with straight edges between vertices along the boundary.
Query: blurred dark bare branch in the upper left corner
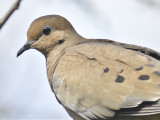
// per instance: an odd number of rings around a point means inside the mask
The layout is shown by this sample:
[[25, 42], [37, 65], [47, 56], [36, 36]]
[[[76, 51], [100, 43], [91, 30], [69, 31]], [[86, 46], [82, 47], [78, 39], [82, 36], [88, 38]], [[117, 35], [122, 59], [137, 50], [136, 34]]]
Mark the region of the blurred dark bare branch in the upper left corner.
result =
[[9, 17], [12, 15], [12, 13], [18, 9], [19, 4], [22, 0], [17, 0], [12, 7], [9, 9], [9, 11], [6, 13], [6, 15], [0, 19], [0, 29], [3, 27], [3, 25], [7, 22], [7, 20], [9, 19]]

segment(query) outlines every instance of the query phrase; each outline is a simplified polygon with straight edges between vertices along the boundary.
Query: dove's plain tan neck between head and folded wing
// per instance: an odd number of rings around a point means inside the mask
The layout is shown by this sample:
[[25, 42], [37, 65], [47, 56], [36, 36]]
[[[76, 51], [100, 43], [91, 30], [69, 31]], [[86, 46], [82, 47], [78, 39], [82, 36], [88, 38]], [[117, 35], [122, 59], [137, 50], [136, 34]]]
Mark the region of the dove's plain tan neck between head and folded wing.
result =
[[85, 41], [85, 38], [81, 37], [80, 35], [67, 36], [66, 38], [67, 40], [62, 45], [55, 46], [47, 55], [45, 55], [47, 76], [52, 90], [52, 80], [55, 68], [61, 57], [65, 54], [66, 49]]

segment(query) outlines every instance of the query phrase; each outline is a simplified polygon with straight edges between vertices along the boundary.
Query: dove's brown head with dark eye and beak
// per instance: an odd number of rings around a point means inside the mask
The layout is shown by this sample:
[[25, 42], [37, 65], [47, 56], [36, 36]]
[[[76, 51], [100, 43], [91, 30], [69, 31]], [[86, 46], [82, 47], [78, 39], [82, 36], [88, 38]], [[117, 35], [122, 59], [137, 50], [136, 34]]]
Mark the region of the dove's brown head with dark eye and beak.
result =
[[17, 57], [28, 49], [36, 49], [45, 56], [56, 47], [69, 45], [77, 36], [70, 22], [59, 15], [47, 15], [35, 19], [27, 32], [27, 42], [18, 51]]

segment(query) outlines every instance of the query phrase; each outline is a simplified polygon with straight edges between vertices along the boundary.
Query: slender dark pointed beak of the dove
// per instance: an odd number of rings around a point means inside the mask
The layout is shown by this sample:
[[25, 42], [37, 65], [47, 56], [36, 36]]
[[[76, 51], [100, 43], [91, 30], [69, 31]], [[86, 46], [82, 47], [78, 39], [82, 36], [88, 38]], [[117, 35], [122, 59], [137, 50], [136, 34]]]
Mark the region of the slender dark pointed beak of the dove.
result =
[[28, 50], [31, 48], [31, 45], [34, 43], [35, 41], [29, 41], [26, 44], [23, 45], [23, 47], [18, 51], [17, 53], [17, 57], [20, 56], [24, 51]]

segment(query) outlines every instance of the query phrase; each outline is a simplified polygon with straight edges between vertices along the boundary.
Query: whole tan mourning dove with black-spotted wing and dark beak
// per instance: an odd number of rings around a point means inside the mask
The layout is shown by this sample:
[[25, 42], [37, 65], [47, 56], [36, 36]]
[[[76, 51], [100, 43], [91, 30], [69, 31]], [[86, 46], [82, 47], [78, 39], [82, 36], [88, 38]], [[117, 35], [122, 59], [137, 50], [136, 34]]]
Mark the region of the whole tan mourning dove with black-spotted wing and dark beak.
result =
[[86, 39], [59, 15], [34, 20], [27, 43], [46, 58], [58, 102], [74, 120], [160, 120], [160, 53]]

